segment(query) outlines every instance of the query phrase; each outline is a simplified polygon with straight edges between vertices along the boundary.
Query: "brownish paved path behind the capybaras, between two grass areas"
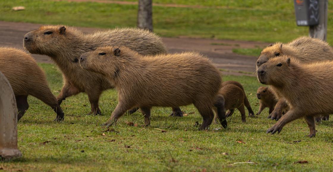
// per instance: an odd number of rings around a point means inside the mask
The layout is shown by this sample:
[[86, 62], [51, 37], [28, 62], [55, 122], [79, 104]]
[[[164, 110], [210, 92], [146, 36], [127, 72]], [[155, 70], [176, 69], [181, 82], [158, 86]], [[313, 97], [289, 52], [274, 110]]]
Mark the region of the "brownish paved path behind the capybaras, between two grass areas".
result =
[[[23, 36], [40, 24], [14, 23], [0, 21], [0, 46], [16, 47], [23, 49]], [[80, 28], [84, 32], [92, 32], [93, 28]], [[254, 48], [255, 46], [265, 46], [267, 43], [249, 42], [249, 41], [232, 41], [232, 40], [215, 40], [215, 39], [198, 39], [198, 38], [163, 38], [169, 52], [182, 51], [199, 51], [209, 57], [217, 67], [231, 71], [254, 72], [257, 57], [244, 56], [232, 53], [232, 48]], [[224, 44], [224, 45], [212, 45]], [[232, 46], [226, 46], [232, 45]], [[235, 46], [237, 45], [237, 46]], [[52, 63], [48, 56], [33, 54], [38, 62]], [[239, 73], [232, 73], [234, 75]], [[243, 75], [243, 74], [241, 74]]]

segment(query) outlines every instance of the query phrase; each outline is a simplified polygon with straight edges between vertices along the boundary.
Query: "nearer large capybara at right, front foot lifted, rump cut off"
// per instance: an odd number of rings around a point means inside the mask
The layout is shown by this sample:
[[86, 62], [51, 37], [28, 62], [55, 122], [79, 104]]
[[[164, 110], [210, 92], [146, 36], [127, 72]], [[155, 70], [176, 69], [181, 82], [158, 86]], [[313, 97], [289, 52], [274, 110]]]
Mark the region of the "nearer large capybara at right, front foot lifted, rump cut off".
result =
[[314, 137], [314, 117], [333, 113], [332, 61], [302, 64], [289, 56], [276, 57], [262, 64], [257, 76], [259, 82], [283, 96], [289, 106], [288, 112], [267, 133], [280, 133], [285, 124], [304, 117], [310, 128], [309, 137]]

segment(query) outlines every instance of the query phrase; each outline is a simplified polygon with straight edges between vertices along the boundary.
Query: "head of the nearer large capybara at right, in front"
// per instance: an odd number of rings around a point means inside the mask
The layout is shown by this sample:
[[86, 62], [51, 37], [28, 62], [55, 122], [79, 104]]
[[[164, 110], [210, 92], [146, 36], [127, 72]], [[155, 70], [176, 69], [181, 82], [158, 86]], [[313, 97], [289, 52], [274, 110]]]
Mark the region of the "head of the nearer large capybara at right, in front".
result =
[[278, 86], [284, 84], [290, 70], [289, 56], [271, 58], [258, 68], [257, 78], [261, 84]]

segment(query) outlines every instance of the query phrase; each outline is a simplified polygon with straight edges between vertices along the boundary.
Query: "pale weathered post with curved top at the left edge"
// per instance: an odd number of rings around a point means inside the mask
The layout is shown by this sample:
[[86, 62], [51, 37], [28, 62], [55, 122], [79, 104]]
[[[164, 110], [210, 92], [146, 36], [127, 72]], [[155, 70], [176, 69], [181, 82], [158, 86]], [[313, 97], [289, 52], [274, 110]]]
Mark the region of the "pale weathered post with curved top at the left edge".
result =
[[0, 72], [0, 160], [22, 156], [17, 148], [17, 107], [7, 78]]

